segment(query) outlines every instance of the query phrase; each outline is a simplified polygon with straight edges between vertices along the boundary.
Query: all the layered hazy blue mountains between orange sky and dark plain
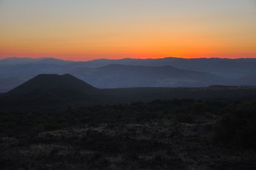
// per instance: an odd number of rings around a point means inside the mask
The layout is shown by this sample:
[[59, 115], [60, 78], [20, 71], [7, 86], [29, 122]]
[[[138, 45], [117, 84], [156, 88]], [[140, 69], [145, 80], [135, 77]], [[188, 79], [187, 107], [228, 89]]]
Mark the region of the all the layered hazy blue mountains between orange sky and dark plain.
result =
[[96, 59], [0, 60], [0, 92], [12, 90], [38, 74], [71, 74], [96, 88], [256, 86], [256, 59]]

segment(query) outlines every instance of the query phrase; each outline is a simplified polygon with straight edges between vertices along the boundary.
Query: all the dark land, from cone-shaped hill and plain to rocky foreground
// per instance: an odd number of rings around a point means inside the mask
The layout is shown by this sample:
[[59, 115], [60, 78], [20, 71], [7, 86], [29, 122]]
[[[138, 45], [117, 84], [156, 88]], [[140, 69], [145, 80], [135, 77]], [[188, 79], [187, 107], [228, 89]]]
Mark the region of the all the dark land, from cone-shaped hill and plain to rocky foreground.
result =
[[41, 74], [0, 94], [0, 167], [254, 170], [255, 101], [254, 87], [100, 89]]

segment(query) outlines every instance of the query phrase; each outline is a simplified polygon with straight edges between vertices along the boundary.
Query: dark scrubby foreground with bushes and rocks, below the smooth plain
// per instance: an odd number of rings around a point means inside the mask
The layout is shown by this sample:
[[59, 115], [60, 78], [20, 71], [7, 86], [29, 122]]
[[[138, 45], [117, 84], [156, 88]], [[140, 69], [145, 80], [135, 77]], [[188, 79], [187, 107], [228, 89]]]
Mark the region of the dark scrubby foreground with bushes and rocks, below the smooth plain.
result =
[[254, 170], [256, 101], [1, 110], [3, 170]]

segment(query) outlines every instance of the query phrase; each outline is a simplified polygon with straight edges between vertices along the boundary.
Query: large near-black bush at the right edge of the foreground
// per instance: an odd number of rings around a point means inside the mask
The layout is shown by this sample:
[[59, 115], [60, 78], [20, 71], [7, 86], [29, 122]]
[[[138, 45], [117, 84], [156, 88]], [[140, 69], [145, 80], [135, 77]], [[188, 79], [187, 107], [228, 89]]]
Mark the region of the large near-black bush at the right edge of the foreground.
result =
[[215, 139], [223, 144], [256, 149], [256, 102], [230, 106], [215, 127]]

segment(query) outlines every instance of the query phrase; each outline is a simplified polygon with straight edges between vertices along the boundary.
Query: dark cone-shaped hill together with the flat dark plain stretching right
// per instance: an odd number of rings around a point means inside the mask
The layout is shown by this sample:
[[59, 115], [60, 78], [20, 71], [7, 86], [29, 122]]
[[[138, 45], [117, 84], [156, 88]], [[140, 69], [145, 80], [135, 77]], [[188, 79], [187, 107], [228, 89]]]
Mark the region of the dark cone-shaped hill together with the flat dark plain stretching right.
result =
[[9, 109], [26, 106], [65, 107], [67, 105], [149, 102], [155, 99], [174, 98], [218, 99], [218, 101], [221, 101], [255, 96], [256, 88], [254, 87], [213, 85], [206, 88], [138, 87], [102, 89], [95, 88], [70, 74], [40, 74], [11, 91], [0, 94], [0, 107]]

